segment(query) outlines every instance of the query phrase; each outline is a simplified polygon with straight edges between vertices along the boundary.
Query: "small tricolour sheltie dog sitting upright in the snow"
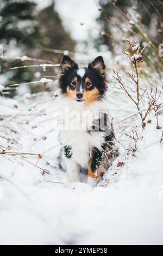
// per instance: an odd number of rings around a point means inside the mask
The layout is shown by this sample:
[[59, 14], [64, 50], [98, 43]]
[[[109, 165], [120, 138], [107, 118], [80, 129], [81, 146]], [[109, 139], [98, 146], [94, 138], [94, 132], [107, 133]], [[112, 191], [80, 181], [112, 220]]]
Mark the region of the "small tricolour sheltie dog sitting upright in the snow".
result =
[[106, 99], [104, 60], [99, 56], [86, 68], [79, 68], [64, 56], [60, 68], [60, 142], [65, 168], [72, 182], [79, 181], [82, 169], [87, 170], [87, 184], [95, 186], [117, 155]]

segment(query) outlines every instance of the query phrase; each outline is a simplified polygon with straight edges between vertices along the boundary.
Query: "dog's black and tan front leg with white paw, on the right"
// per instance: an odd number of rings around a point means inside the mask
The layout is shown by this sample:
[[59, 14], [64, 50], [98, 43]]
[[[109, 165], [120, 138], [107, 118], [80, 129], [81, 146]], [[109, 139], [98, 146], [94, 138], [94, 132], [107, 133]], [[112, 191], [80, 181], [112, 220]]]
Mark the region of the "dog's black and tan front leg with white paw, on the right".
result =
[[96, 186], [97, 181], [102, 178], [105, 173], [104, 168], [105, 151], [100, 151], [97, 148], [93, 148], [91, 157], [89, 159], [89, 173], [87, 178], [87, 184]]

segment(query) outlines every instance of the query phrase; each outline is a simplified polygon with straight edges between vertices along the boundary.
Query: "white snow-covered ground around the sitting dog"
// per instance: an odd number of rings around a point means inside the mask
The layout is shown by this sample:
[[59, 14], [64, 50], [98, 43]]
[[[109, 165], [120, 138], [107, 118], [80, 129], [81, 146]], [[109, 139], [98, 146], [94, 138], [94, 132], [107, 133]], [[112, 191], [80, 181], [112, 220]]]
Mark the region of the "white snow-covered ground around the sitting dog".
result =
[[[120, 156], [92, 188], [58, 168], [58, 100], [46, 92], [0, 98], [0, 243], [162, 244], [163, 142], [154, 113], [144, 130], [137, 115], [115, 125]], [[108, 100], [114, 124], [136, 112], [114, 83]]]

